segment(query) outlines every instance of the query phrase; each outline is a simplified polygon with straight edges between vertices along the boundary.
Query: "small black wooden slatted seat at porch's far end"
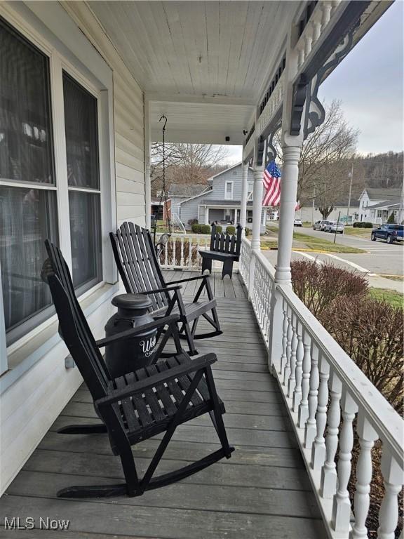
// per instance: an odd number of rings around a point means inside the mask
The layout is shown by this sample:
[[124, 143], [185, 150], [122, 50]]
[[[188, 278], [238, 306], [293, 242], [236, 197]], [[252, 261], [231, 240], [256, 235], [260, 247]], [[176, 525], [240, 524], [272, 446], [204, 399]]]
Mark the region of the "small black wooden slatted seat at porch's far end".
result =
[[212, 234], [210, 235], [209, 251], [199, 251], [202, 257], [202, 274], [205, 270], [212, 272], [212, 260], [223, 262], [222, 279], [225, 275], [233, 274], [233, 263], [238, 262], [241, 249], [241, 232], [243, 227], [237, 225], [237, 235], [219, 234], [216, 232], [216, 225], [212, 225]]

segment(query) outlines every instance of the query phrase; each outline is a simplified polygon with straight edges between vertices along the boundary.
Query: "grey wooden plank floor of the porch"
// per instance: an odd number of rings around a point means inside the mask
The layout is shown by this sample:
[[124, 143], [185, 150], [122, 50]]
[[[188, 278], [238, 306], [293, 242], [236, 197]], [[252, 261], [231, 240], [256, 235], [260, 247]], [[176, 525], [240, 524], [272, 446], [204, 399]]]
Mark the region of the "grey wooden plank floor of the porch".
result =
[[[189, 276], [187, 272], [187, 277]], [[181, 278], [167, 272], [168, 280]], [[62, 425], [91, 422], [90, 394], [81, 387], [41, 441], [1, 499], [4, 517], [68, 519], [69, 530], [5, 531], [13, 539], [324, 539], [325, 528], [311, 491], [281, 394], [267, 371], [267, 352], [238, 274], [213, 275], [224, 334], [197, 342], [199, 352], [215, 352], [217, 390], [224, 400], [229, 441], [236, 447], [223, 460], [180, 483], [140, 498], [62, 500], [58, 489], [121, 479], [119, 458], [105, 435], [57, 434]], [[192, 284], [185, 295], [194, 293]], [[168, 471], [218, 448], [209, 418], [177, 429], [159, 470]], [[158, 440], [135, 446], [146, 467]], [[51, 535], [50, 535], [51, 534]]]

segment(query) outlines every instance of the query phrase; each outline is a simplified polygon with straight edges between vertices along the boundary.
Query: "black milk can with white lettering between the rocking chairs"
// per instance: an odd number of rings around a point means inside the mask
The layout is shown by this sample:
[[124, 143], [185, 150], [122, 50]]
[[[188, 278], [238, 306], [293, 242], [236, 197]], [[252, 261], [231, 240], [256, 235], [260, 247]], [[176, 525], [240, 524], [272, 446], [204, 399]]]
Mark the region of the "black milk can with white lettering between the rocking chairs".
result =
[[[118, 312], [105, 325], [106, 337], [154, 321], [152, 315], [147, 312], [152, 307], [152, 301], [147, 295], [119, 294], [112, 300], [112, 305], [118, 307]], [[152, 329], [133, 338], [107, 345], [105, 363], [112, 378], [133, 373], [137, 368], [150, 365], [156, 346], [156, 335], [157, 330]]]

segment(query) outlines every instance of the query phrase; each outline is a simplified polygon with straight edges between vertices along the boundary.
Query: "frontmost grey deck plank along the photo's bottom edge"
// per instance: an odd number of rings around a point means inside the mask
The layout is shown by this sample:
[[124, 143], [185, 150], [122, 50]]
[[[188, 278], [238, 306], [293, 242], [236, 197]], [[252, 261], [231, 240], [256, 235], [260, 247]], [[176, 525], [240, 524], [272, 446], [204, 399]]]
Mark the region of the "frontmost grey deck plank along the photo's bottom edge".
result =
[[[239, 514], [221, 511], [192, 511], [137, 507], [121, 503], [78, 502], [53, 498], [8, 495], [4, 514], [18, 514], [22, 519], [43, 514], [68, 519], [71, 532], [90, 531], [110, 535], [161, 537], [163, 539], [269, 539], [324, 538], [321, 521], [267, 514]], [[323, 534], [323, 535], [322, 535]], [[119, 536], [118, 535], [118, 536]]]

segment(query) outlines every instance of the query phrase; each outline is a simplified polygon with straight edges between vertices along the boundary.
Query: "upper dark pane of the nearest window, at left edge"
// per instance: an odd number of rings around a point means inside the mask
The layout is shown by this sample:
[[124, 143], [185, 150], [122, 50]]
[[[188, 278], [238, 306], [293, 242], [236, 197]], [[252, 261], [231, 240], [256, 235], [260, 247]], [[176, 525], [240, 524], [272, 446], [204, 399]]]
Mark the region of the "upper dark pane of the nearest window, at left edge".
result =
[[53, 183], [48, 58], [0, 18], [0, 178]]

